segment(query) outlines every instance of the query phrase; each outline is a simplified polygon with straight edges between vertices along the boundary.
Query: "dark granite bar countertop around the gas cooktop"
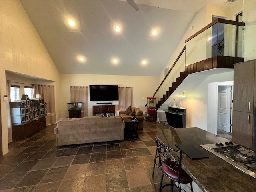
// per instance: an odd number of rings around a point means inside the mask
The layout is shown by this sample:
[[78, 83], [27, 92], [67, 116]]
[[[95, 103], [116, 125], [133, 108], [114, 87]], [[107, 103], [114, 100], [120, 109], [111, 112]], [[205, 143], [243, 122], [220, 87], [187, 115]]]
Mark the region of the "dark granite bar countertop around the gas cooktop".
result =
[[[202, 149], [200, 144], [212, 144], [226, 141], [225, 138], [200, 128], [164, 129], [157, 137], [167, 146], [178, 149], [176, 143], [192, 144]], [[204, 150], [209, 158], [190, 159], [182, 154], [182, 168], [205, 192], [256, 192], [256, 179], [238, 170], [218, 156]]]

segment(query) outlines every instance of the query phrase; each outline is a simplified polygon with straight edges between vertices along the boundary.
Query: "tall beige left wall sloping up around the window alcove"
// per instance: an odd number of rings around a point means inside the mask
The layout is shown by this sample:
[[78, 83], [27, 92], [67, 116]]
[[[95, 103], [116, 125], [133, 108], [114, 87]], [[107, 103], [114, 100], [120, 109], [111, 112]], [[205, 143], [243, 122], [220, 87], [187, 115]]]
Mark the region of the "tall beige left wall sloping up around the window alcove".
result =
[[[12, 71], [28, 77], [36, 77], [31, 82], [56, 85], [56, 95], [60, 90], [59, 72], [48, 54], [42, 40], [32, 25], [20, 1], [0, 1], [0, 45], [1, 45], [1, 122], [3, 154], [8, 152], [6, 73]], [[10, 76], [8, 77], [10, 78]], [[26, 81], [15, 77], [16, 81]], [[20, 78], [20, 79], [19, 79]], [[58, 108], [58, 103], [56, 103]], [[58, 117], [59, 115], [56, 114]]]

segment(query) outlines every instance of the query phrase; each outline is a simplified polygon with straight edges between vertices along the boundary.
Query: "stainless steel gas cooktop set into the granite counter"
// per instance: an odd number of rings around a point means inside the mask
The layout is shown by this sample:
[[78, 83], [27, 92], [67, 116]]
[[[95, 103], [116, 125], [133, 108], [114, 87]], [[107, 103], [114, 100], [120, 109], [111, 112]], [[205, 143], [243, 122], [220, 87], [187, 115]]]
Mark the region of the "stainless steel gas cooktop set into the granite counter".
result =
[[214, 143], [200, 145], [212, 154], [232, 164], [242, 172], [256, 178], [255, 152], [243, 146], [232, 143]]

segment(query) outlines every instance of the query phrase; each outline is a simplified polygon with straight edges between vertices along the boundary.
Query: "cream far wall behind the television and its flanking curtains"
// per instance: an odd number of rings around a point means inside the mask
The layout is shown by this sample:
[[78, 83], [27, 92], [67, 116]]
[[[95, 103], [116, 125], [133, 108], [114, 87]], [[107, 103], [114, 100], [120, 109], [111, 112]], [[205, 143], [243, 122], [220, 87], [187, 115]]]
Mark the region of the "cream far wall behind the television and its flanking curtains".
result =
[[[67, 103], [70, 102], [70, 86], [88, 86], [89, 85], [110, 84], [120, 87], [133, 87], [134, 107], [145, 110], [147, 103], [146, 97], [154, 94], [158, 87], [158, 76], [118, 76], [118, 75], [90, 75], [90, 74], [61, 74], [61, 95], [60, 95], [60, 114], [61, 118], [68, 116]], [[97, 102], [91, 102], [88, 95], [88, 116], [92, 115], [92, 105]], [[118, 105], [113, 101], [113, 105]], [[117, 110], [117, 106], [116, 106]]]

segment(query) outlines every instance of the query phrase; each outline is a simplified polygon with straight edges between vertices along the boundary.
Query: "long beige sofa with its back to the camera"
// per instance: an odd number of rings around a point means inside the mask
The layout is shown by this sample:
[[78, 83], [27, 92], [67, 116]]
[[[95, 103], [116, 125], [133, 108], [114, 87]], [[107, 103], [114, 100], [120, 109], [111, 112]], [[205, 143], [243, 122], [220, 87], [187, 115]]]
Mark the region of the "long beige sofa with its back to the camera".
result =
[[123, 140], [124, 128], [121, 116], [61, 118], [54, 128], [56, 146]]

